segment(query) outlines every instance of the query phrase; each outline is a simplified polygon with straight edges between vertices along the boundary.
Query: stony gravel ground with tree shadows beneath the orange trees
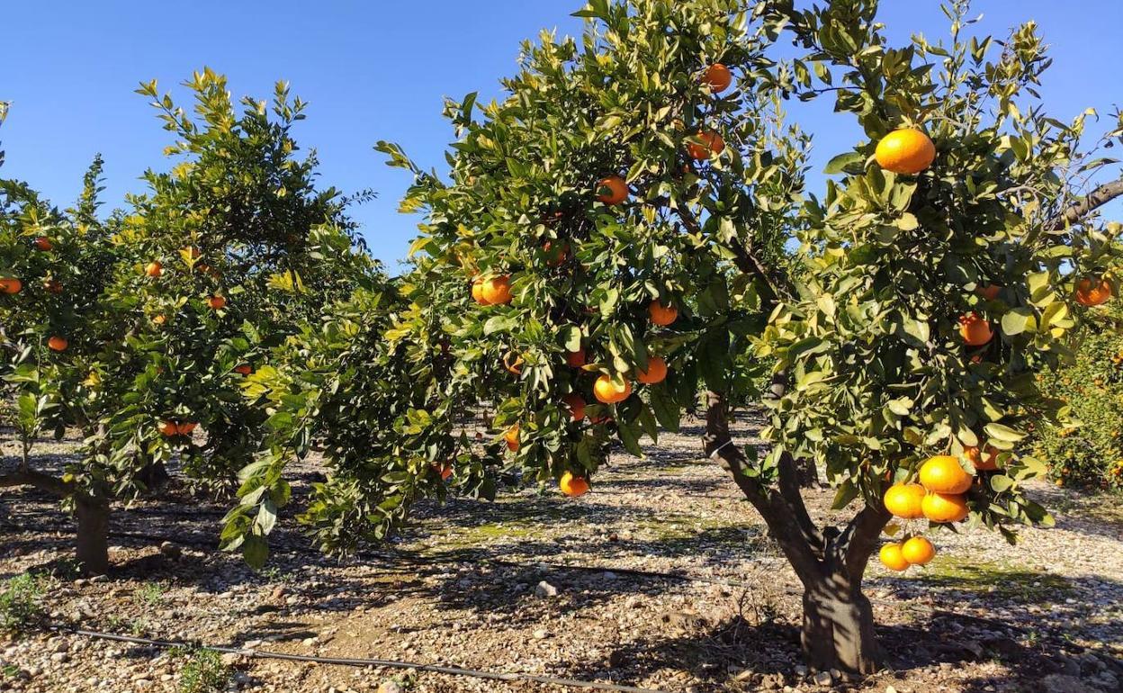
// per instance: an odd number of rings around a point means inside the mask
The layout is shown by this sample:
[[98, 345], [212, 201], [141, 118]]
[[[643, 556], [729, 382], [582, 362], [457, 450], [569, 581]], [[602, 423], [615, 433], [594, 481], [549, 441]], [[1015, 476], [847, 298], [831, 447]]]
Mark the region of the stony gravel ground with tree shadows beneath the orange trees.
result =
[[[739, 431], [751, 437], [747, 426]], [[94, 640], [74, 628], [291, 655], [378, 658], [667, 691], [1123, 690], [1123, 509], [1053, 486], [1057, 518], [1008, 546], [982, 528], [934, 532], [923, 569], [867, 574], [889, 668], [865, 680], [800, 665], [800, 591], [763, 522], [713, 463], [701, 430], [622, 453], [593, 492], [524, 491], [426, 504], [391, 546], [338, 562], [282, 531], [254, 573], [212, 550], [225, 511], [173, 489], [113, 517], [108, 578], [67, 558], [57, 504], [0, 491], [0, 577], [31, 571], [46, 614], [4, 641], [0, 691], [186, 691], [200, 658]], [[11, 463], [13, 446], [0, 431]], [[44, 444], [62, 456], [73, 441]], [[303, 469], [296, 495], [314, 468]], [[807, 491], [815, 519], [832, 493]], [[170, 541], [168, 541], [170, 540]], [[566, 566], [581, 566], [566, 567]], [[678, 578], [637, 574], [672, 573]], [[382, 667], [225, 655], [219, 690], [573, 691]]]

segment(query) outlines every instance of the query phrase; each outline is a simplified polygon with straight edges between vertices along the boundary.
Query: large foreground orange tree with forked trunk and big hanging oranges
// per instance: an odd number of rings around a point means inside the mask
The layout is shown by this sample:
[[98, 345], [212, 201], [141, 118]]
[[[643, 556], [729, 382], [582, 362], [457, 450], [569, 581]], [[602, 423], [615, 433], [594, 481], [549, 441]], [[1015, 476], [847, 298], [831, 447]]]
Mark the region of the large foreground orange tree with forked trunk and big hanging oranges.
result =
[[[1042, 465], [1017, 444], [1028, 420], [1063, 414], [1035, 373], [1070, 355], [1087, 304], [1114, 291], [1117, 229], [1094, 212], [1123, 182], [1075, 186], [1107, 162], [1081, 161], [1083, 118], [1063, 125], [1035, 103], [1047, 58], [1032, 25], [1003, 44], [966, 37], [959, 2], [949, 45], [894, 48], [874, 2], [745, 4], [590, 2], [584, 39], [526, 45], [480, 118], [475, 97], [448, 104], [449, 180], [381, 145], [417, 176], [404, 209], [427, 216], [409, 308], [366, 347], [418, 377], [390, 440], [408, 455], [336, 453], [377, 483], [328, 493], [310, 519], [382, 536], [449, 463], [468, 492], [521, 471], [579, 495], [612, 443], [640, 454], [702, 393], [705, 452], [804, 586], [809, 663], [869, 672], [882, 653], [861, 580], [891, 510], [1011, 537], [1049, 521], [1023, 494]], [[782, 33], [796, 58], [772, 57]], [[778, 104], [825, 94], [868, 139], [831, 161], [822, 199], [804, 199], [806, 138]], [[728, 423], [752, 361], [775, 364], [760, 457]], [[390, 392], [347, 386], [339, 401]], [[284, 386], [267, 392], [282, 428], [314, 416]], [[490, 414], [483, 440], [473, 410]], [[807, 463], [838, 509], [856, 507], [849, 522], [812, 520]], [[253, 518], [285, 498], [283, 466], [249, 471], [230, 544], [259, 548], [272, 525]], [[883, 557], [900, 569], [933, 553], [916, 536]]]

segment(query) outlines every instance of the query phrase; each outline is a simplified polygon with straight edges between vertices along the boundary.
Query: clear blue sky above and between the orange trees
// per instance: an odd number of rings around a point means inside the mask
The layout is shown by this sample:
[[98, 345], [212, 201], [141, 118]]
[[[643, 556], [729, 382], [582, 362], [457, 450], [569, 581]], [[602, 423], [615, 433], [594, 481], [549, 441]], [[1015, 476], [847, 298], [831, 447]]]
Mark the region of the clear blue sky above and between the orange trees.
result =
[[[445, 95], [497, 93], [511, 74], [519, 42], [544, 27], [578, 34], [569, 13], [582, 0], [193, 0], [48, 1], [3, 3], [0, 100], [12, 101], [0, 140], [4, 176], [27, 180], [56, 203], [70, 203], [98, 152], [106, 157], [109, 207], [146, 167], [163, 167], [161, 129], [146, 100], [133, 93], [141, 80], [175, 88], [209, 65], [226, 73], [235, 97], [267, 98], [287, 80], [310, 102], [296, 138], [322, 161], [322, 181], [344, 191], [373, 188], [380, 198], [354, 210], [373, 253], [393, 266], [404, 256], [417, 220], [398, 215], [408, 184], [372, 149], [378, 139], [400, 143], [424, 167], [444, 170], [451, 130], [440, 117]], [[883, 0], [882, 18], [895, 40], [922, 33], [946, 36], [937, 0]], [[1043, 95], [1068, 120], [1086, 106], [1105, 117], [1123, 104], [1117, 40], [1120, 0], [976, 0], [986, 31], [1035, 19], [1053, 46], [1054, 66]], [[798, 111], [816, 136], [816, 165], [856, 140], [848, 117], [822, 106]], [[802, 108], [794, 106], [793, 108]]]

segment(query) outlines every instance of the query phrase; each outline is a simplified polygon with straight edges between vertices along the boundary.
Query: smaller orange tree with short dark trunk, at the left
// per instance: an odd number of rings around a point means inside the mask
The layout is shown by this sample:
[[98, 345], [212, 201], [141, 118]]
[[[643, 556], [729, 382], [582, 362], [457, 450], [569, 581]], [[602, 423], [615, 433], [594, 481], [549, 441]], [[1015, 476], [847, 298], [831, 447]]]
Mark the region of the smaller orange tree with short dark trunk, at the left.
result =
[[372, 265], [354, 252], [345, 200], [314, 188], [314, 154], [296, 158], [299, 99], [281, 84], [272, 116], [253, 100], [236, 113], [220, 76], [190, 85], [204, 125], [158, 98], [177, 139], [170, 154], [183, 156], [145, 175], [150, 192], [130, 197], [130, 212], [95, 218], [97, 170], [66, 213], [4, 188], [0, 272], [30, 289], [0, 304], [21, 434], [73, 426], [83, 439], [61, 473], [25, 455], [4, 484], [73, 503], [79, 560], [93, 572], [108, 568], [111, 502], [144, 491], [164, 462], [210, 487], [232, 483], [265, 421], [241, 381]]

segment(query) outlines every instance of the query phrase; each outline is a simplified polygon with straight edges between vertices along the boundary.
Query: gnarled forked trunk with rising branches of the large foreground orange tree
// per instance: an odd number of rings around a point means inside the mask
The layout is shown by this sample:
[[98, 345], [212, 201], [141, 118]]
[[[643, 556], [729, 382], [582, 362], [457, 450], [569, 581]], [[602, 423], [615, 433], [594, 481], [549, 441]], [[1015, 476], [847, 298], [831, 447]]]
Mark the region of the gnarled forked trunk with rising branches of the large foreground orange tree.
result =
[[846, 527], [820, 530], [800, 495], [800, 473], [791, 456], [780, 458], [776, 489], [746, 473], [746, 458], [732, 444], [725, 398], [720, 392], [707, 394], [703, 445], [764, 518], [803, 583], [800, 639], [807, 665], [858, 674], [876, 672], [883, 651], [874, 631], [873, 609], [861, 592], [861, 577], [889, 513], [867, 505]]

